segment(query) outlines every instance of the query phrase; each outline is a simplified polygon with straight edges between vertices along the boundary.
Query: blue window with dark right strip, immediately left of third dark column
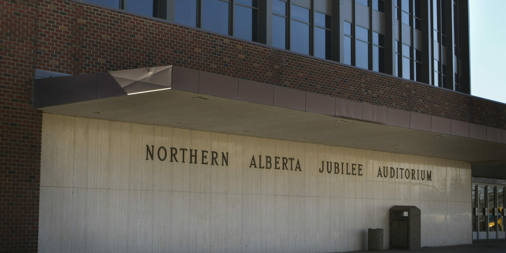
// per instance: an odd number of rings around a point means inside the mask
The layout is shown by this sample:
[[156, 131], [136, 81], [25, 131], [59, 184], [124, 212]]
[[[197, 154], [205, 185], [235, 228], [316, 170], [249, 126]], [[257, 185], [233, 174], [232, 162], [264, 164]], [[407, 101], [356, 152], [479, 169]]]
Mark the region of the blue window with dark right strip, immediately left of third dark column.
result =
[[332, 58], [332, 20], [331, 17], [323, 13], [315, 12], [315, 56], [331, 59]]

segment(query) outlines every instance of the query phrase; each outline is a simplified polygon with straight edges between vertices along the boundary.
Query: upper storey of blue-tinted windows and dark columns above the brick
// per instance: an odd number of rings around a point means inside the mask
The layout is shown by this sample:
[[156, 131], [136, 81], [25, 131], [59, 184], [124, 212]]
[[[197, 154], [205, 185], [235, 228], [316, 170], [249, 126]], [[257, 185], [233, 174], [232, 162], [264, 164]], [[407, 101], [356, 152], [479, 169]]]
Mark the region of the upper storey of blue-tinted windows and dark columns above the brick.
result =
[[90, 2], [470, 93], [468, 0]]

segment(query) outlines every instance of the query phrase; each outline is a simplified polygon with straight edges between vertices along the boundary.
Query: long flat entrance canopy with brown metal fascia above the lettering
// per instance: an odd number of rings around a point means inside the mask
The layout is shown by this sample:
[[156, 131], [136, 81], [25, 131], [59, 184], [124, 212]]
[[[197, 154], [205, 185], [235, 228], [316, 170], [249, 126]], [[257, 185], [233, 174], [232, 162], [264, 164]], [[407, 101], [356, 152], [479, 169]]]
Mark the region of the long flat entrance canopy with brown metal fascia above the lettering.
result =
[[197, 70], [64, 76], [34, 87], [46, 113], [455, 159], [506, 178], [506, 131]]

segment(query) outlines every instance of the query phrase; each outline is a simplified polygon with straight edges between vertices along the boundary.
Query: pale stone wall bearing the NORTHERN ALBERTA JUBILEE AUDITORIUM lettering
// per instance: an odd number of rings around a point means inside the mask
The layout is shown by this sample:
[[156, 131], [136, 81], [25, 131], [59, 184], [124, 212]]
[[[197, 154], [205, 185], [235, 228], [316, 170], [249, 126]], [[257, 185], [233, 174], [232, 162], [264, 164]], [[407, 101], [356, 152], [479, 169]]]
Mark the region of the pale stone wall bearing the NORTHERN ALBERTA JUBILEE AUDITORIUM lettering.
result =
[[422, 246], [472, 242], [468, 162], [55, 114], [43, 125], [39, 252], [351, 251], [367, 249], [367, 228], [388, 248], [393, 205], [421, 209]]

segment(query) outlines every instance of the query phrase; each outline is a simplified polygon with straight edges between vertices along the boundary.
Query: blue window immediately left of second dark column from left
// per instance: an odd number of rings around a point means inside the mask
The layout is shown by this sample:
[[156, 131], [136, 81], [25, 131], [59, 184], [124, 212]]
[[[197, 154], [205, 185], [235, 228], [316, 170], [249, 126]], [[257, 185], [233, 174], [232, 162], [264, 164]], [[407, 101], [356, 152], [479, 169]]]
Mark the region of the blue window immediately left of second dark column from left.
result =
[[[238, 1], [236, 1], [236, 3], [237, 2]], [[258, 41], [258, 10], [246, 6], [235, 5], [234, 11], [234, 36]]]

